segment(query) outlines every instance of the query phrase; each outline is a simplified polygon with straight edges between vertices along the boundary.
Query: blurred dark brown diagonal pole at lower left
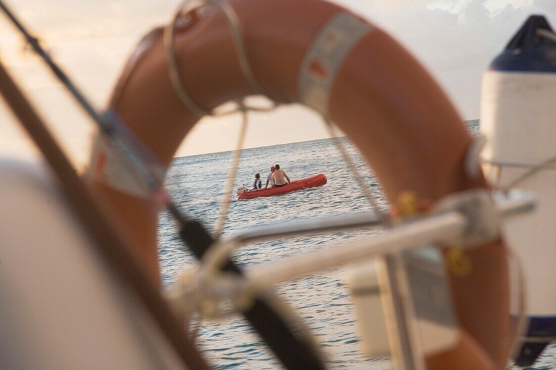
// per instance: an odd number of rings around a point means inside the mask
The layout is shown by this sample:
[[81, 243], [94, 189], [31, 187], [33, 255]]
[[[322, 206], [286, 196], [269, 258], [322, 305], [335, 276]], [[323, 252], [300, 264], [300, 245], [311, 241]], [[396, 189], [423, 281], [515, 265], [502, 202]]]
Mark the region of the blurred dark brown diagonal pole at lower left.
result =
[[[3, 7], [1, 2], [0, 4]], [[77, 176], [68, 158], [47, 130], [46, 124], [23, 96], [21, 89], [9, 76], [1, 62], [0, 92], [59, 181], [63, 194], [69, 202], [69, 209], [75, 213], [74, 216], [81, 221], [83, 230], [93, 241], [92, 250], [111, 269], [113, 277], [119, 279], [120, 283], [125, 284], [131, 292], [135, 293], [182, 362], [188, 368], [208, 370], [209, 367], [193, 343], [181, 331], [180, 322], [168, 302], [161, 296], [158, 286], [147, 276], [145, 267], [132, 252], [128, 240], [110, 222], [90, 189]]]

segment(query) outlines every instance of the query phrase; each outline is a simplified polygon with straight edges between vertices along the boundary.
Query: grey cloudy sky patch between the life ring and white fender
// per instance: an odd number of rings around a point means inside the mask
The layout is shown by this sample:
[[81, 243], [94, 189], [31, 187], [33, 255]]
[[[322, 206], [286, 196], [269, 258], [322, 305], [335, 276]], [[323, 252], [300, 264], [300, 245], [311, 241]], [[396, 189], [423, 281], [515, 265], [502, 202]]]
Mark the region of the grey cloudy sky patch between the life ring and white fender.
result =
[[[338, 0], [388, 31], [429, 69], [465, 119], [479, 117], [483, 71], [530, 14], [556, 22], [556, 1], [406, 1], [399, 6]], [[363, 3], [368, 6], [364, 6]]]

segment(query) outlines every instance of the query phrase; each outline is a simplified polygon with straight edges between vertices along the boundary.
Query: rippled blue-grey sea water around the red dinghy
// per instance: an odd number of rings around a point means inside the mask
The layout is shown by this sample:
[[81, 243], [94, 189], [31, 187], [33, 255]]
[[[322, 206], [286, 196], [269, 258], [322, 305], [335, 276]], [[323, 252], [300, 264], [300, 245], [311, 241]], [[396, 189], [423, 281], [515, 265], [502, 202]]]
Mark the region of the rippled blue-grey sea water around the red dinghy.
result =
[[[478, 122], [470, 121], [469, 128], [476, 132]], [[347, 138], [340, 140], [355, 159], [364, 182], [370, 184], [379, 207], [386, 209], [387, 203], [370, 168]], [[230, 162], [231, 152], [181, 157], [173, 160], [168, 172], [166, 186], [175, 202], [185, 214], [201, 221], [210, 231], [216, 228]], [[261, 174], [265, 184], [270, 166], [276, 163], [292, 180], [324, 173], [328, 182], [323, 187], [283, 196], [237, 201], [230, 195], [224, 236], [261, 224], [370, 209], [354, 174], [342, 160], [332, 139], [246, 149], [241, 155], [234, 188], [241, 184], [251, 188], [256, 172]], [[380, 229], [367, 229], [252, 243], [239, 249], [234, 254], [234, 261], [241, 268], [254, 268], [280, 258], [330, 248], [336, 243], [380, 232]], [[177, 227], [165, 213], [160, 217], [159, 238], [162, 279], [165, 286], [171, 286], [183, 269], [193, 269], [197, 262], [189, 252], [184, 251], [177, 237]], [[346, 268], [336, 268], [292, 279], [279, 284], [276, 292], [297, 310], [310, 328], [330, 368], [389, 369], [391, 363], [388, 358], [369, 359], [361, 352], [355, 314], [345, 283], [346, 271]], [[237, 314], [220, 322], [203, 321], [198, 343], [216, 369], [281, 368], [269, 349]], [[556, 346], [550, 348], [534, 367], [538, 370], [549, 368], [556, 368]]]

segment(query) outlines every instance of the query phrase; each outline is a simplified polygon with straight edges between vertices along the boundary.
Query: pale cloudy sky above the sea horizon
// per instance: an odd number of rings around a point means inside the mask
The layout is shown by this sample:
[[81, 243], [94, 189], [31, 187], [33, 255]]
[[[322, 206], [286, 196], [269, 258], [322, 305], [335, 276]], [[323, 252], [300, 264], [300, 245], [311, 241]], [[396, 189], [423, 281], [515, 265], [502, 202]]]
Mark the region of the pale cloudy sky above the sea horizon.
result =
[[[300, 0], [302, 1], [302, 0]], [[389, 32], [428, 68], [463, 119], [479, 118], [481, 76], [529, 14], [556, 25], [556, 0], [334, 0]], [[10, 0], [8, 6], [98, 109], [105, 107], [137, 41], [166, 23], [178, 0]], [[49, 128], [84, 166], [93, 124], [0, 14], [0, 58]], [[245, 147], [328, 137], [301, 106], [252, 114]], [[234, 149], [239, 117], [204, 118], [176, 156]], [[276, 128], [280, 129], [277, 130]], [[278, 132], [278, 134], [277, 134]], [[233, 142], [233, 141], [232, 141]], [[0, 157], [34, 158], [36, 149], [0, 102]]]

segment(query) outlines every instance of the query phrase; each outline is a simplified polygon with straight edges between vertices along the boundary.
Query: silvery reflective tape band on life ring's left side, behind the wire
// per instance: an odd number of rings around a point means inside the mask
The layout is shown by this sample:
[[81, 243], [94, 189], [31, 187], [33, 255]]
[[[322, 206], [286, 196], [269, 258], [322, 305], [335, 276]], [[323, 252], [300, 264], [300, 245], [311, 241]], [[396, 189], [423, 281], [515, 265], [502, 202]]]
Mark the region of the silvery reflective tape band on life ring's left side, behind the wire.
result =
[[[104, 135], [98, 135], [93, 142], [91, 162], [87, 180], [100, 182], [108, 187], [140, 198], [151, 198], [147, 182], [134, 173], [128, 166], [125, 156], [117, 150]], [[166, 169], [151, 164], [152, 173], [162, 182]]]

